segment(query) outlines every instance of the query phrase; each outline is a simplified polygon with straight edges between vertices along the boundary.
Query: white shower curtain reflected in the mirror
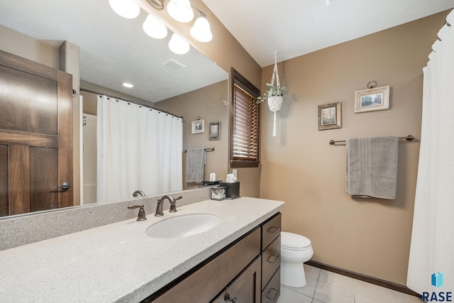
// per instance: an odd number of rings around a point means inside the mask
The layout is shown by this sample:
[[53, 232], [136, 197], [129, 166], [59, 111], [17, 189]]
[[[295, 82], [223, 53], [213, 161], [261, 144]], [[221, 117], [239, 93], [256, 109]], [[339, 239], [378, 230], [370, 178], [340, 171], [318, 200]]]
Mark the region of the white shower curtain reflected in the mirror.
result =
[[182, 119], [98, 97], [97, 202], [182, 190]]

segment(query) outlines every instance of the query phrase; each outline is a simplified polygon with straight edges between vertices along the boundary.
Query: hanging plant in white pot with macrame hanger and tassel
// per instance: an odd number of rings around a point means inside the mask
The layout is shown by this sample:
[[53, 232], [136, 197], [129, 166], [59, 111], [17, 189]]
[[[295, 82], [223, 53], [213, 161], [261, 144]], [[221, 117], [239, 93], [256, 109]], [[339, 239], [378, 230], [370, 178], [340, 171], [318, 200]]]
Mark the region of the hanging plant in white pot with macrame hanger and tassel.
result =
[[257, 103], [268, 101], [268, 107], [270, 111], [274, 111], [274, 123], [272, 127], [272, 136], [277, 136], [277, 125], [276, 125], [276, 111], [280, 111], [282, 107], [282, 96], [288, 93], [287, 87], [281, 87], [279, 83], [279, 74], [277, 73], [277, 53], [275, 53], [275, 68], [272, 70], [271, 83], [267, 83], [267, 91], [264, 97], [258, 97]]

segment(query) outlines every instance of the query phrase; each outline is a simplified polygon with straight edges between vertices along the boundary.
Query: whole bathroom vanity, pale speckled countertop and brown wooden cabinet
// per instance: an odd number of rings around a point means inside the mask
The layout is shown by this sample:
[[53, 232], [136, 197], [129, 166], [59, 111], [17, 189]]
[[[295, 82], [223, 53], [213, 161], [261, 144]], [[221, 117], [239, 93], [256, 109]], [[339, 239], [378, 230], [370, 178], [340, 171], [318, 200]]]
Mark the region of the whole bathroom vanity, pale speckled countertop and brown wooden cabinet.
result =
[[[280, 209], [240, 197], [178, 206], [0, 251], [0, 302], [275, 302]], [[192, 236], [147, 231], [177, 216], [220, 219]]]

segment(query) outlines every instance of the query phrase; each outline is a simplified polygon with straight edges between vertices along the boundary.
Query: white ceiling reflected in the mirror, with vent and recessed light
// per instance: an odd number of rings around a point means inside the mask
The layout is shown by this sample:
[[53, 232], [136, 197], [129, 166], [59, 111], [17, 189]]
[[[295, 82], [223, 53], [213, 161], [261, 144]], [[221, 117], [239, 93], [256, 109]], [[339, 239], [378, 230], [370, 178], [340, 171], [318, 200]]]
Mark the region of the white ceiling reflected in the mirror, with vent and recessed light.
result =
[[[68, 40], [80, 48], [80, 77], [152, 102], [220, 82], [228, 73], [191, 48], [170, 52], [163, 40], [142, 30], [147, 13], [133, 20], [118, 16], [108, 0], [0, 0], [0, 25], [47, 43]], [[1, 43], [1, 41], [0, 41]], [[179, 72], [162, 63], [173, 59], [186, 66]], [[132, 82], [126, 89], [122, 82]]]

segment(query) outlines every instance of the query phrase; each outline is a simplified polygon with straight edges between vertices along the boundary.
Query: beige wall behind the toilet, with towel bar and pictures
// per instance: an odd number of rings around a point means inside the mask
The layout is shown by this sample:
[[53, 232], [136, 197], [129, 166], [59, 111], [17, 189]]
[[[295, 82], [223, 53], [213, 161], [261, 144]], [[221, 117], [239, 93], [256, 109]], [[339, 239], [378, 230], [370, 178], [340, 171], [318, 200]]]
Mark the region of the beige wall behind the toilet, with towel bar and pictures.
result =
[[[399, 144], [397, 199], [345, 193], [345, 145], [362, 136], [421, 135], [422, 68], [447, 11], [279, 64], [289, 87], [272, 137], [262, 111], [260, 197], [287, 202], [282, 229], [307, 236], [313, 260], [406, 283], [419, 140]], [[262, 90], [272, 66], [262, 70]], [[354, 113], [355, 91], [389, 85], [387, 111]], [[342, 128], [318, 131], [317, 106], [342, 102]], [[266, 105], [265, 105], [266, 106]], [[262, 107], [265, 109], [265, 107]]]

